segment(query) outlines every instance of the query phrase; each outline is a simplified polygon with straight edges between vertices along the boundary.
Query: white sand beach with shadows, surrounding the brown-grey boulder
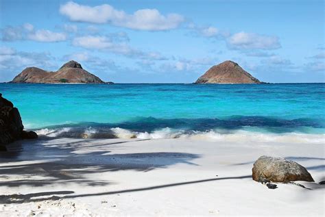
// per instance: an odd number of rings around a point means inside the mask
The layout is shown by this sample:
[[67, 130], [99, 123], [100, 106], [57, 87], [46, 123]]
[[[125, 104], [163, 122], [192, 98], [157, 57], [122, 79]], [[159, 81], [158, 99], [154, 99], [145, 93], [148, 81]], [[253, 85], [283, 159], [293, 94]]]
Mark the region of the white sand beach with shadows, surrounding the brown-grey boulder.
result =
[[[325, 180], [324, 144], [195, 139], [26, 141], [0, 154], [1, 216], [324, 216], [324, 188], [252, 181], [260, 155]], [[19, 148], [19, 143], [16, 143]]]

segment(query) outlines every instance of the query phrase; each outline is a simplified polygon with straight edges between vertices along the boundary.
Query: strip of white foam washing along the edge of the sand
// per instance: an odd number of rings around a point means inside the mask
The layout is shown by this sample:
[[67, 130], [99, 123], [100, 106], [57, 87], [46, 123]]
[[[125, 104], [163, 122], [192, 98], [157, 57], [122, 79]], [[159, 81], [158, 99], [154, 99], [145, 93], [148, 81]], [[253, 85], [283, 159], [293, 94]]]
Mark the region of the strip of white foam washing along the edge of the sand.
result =
[[152, 132], [137, 132], [128, 129], [95, 128], [95, 127], [62, 127], [58, 129], [39, 129], [36, 131], [40, 136], [66, 137], [66, 138], [141, 138], [141, 139], [164, 139], [164, 138], [190, 138], [193, 140], [212, 140], [229, 142], [290, 142], [290, 143], [317, 143], [325, 144], [324, 134], [306, 133], [258, 133], [252, 131], [232, 131], [220, 133], [218, 131], [184, 131], [169, 127]]

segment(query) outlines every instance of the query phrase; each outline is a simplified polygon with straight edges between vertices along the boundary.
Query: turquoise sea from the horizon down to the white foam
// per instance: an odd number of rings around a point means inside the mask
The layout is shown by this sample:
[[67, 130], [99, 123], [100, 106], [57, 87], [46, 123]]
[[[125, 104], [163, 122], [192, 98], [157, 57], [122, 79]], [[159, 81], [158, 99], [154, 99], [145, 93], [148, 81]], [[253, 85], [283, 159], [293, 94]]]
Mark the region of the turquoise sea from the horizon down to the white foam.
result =
[[[325, 84], [0, 84], [28, 129], [67, 135], [238, 130], [324, 133]], [[108, 136], [109, 137], [109, 136]]]

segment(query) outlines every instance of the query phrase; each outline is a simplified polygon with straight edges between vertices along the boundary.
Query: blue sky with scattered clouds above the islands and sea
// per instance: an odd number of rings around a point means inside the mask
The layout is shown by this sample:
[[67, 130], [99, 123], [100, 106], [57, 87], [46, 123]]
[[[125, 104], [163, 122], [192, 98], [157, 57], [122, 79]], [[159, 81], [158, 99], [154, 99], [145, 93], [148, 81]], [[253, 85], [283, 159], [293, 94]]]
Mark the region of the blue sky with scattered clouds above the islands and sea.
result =
[[192, 83], [226, 60], [265, 82], [325, 82], [324, 29], [318, 0], [0, 0], [0, 82], [69, 60], [115, 83]]

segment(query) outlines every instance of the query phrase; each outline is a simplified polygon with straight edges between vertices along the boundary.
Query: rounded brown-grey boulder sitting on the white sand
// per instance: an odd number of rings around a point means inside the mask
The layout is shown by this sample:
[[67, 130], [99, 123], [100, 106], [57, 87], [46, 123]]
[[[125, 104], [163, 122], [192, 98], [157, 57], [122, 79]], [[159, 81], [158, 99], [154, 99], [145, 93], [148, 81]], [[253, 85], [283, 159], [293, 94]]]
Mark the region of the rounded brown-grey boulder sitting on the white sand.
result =
[[264, 182], [288, 183], [290, 181], [314, 181], [311, 174], [300, 164], [280, 157], [259, 157], [252, 168], [253, 179]]

